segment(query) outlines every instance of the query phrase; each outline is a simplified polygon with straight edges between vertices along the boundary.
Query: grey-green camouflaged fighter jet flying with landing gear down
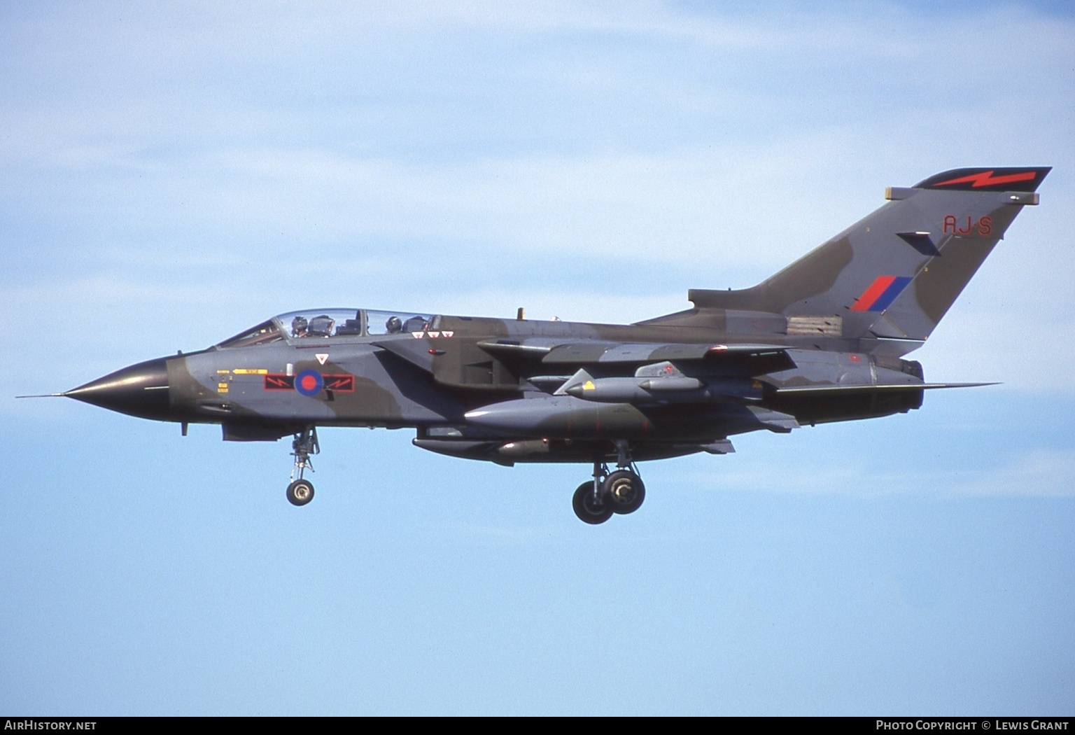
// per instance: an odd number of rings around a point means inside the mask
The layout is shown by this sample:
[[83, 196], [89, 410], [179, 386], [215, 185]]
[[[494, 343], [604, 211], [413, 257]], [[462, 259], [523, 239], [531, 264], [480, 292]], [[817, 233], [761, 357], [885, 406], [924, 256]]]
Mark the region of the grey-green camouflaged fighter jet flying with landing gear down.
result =
[[1048, 168], [946, 171], [763, 283], [693, 289], [693, 308], [633, 325], [366, 308], [272, 317], [209, 349], [141, 362], [60, 395], [225, 441], [293, 435], [304, 505], [317, 427], [416, 431], [415, 446], [512, 465], [580, 462], [575, 514], [633, 513], [637, 462], [733, 451], [729, 437], [918, 408], [919, 347]]

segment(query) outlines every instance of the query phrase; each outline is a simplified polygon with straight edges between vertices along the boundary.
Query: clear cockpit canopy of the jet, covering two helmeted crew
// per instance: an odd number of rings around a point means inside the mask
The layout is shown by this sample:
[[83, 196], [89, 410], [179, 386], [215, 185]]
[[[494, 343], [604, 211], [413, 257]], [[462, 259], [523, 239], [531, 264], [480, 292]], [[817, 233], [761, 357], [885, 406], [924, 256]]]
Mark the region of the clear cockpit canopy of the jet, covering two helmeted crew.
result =
[[217, 345], [220, 349], [267, 345], [285, 340], [335, 340], [425, 332], [433, 316], [414, 312], [375, 312], [366, 308], [314, 308], [274, 316]]

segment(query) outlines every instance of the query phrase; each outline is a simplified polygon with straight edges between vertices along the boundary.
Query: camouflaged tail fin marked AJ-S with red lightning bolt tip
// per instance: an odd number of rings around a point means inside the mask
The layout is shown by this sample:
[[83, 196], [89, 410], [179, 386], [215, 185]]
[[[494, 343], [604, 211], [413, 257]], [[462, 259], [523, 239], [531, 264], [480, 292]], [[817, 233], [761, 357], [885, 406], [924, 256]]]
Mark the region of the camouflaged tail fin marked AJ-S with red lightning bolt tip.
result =
[[889, 188], [879, 210], [754, 288], [689, 299], [780, 314], [789, 334], [822, 317], [835, 336], [926, 340], [1049, 171], [955, 169]]

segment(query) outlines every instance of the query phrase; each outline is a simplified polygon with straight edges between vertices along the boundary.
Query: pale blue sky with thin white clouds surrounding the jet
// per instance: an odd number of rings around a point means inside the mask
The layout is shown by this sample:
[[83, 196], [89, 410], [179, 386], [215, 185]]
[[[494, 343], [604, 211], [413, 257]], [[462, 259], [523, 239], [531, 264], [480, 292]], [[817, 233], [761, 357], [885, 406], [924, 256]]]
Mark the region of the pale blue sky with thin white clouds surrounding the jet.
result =
[[[1066, 3], [5, 3], [0, 710], [1075, 709]], [[922, 410], [644, 466], [15, 401], [293, 308], [624, 322], [906, 186], [1054, 165]]]

